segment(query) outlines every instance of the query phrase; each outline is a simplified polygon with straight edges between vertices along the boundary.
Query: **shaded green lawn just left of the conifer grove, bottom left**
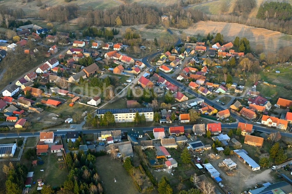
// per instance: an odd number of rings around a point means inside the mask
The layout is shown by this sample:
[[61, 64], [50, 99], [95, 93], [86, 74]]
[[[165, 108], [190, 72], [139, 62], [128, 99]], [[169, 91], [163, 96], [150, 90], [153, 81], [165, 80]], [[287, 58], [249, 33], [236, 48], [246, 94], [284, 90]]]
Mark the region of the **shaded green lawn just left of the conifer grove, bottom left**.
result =
[[[61, 156], [59, 156], [60, 158]], [[44, 164], [37, 164], [34, 167], [31, 167], [30, 171], [34, 171], [34, 177], [32, 182], [37, 182], [37, 179], [42, 179], [44, 184], [51, 185], [52, 187], [58, 187], [63, 184], [67, 179], [68, 171], [65, 163], [58, 163], [57, 154], [49, 153], [46, 156], [40, 156], [44, 161]], [[38, 159], [39, 161], [39, 159]], [[59, 168], [59, 165], [62, 165], [62, 168]], [[40, 171], [44, 169], [44, 172]], [[37, 185], [32, 185], [31, 190], [36, 190]]]

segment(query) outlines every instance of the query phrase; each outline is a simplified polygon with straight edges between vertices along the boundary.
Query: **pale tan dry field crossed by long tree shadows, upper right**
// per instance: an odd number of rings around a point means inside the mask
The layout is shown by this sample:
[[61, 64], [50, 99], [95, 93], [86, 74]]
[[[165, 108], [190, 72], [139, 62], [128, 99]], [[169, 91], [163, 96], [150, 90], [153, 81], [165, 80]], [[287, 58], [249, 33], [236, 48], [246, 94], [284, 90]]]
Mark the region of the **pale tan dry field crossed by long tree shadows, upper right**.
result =
[[[236, 36], [246, 37], [250, 41], [252, 49], [255, 49], [257, 44], [262, 44], [265, 52], [274, 52], [281, 47], [290, 46], [292, 43], [292, 35], [237, 23], [200, 21], [193, 24], [188, 29], [172, 30], [178, 35], [184, 32], [191, 36], [196, 36], [198, 33], [207, 36], [208, 33], [220, 32], [223, 34], [224, 40], [226, 41], [233, 41]], [[215, 34], [213, 36], [215, 36]]]

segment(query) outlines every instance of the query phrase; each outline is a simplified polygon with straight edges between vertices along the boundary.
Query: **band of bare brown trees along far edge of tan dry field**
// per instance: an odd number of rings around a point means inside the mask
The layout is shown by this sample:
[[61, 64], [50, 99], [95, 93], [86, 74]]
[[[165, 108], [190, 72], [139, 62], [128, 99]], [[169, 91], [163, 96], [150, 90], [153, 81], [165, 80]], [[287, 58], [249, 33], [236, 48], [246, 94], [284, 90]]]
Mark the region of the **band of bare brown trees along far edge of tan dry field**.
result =
[[234, 16], [234, 15], [211, 15], [208, 17], [208, 20], [214, 22], [230, 22], [245, 24], [258, 28], [265, 28], [268, 30], [279, 31], [286, 34], [292, 34], [292, 20], [259, 20], [256, 18], [245, 18], [243, 16]]

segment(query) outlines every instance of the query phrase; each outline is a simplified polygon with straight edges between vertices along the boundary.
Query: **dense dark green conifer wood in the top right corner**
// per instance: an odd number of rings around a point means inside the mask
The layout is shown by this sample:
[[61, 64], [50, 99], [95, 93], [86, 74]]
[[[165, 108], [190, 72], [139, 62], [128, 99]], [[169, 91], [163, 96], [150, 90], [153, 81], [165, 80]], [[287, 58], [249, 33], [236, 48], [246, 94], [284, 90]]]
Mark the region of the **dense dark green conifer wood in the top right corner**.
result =
[[265, 2], [258, 9], [256, 17], [258, 19], [290, 20], [292, 16], [292, 6], [290, 3]]

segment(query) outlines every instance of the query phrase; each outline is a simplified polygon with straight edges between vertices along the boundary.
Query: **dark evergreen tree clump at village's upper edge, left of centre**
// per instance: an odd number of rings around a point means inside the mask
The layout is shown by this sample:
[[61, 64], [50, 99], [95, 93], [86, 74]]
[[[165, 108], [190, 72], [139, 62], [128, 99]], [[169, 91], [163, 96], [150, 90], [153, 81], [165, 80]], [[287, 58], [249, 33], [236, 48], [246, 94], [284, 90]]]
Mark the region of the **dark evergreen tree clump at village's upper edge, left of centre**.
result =
[[93, 37], [100, 37], [100, 38], [106, 38], [108, 40], [112, 40], [114, 38], [114, 35], [119, 34], [119, 30], [116, 28], [110, 29], [110, 28], [101, 28], [98, 29], [96, 27], [87, 27], [87, 29], [83, 30], [82, 35], [85, 36], [93, 36]]

